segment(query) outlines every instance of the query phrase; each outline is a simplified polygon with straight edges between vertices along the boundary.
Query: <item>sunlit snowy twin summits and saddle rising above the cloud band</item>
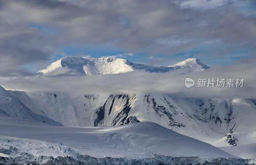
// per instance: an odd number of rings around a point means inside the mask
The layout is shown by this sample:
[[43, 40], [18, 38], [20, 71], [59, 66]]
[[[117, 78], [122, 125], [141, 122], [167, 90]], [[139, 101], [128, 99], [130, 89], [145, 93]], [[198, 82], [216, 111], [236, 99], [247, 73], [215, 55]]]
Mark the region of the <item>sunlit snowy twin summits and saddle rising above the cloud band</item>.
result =
[[48, 67], [40, 70], [44, 74], [78, 74], [78, 75], [96, 75], [96, 74], [117, 74], [125, 73], [137, 69], [143, 69], [149, 72], [167, 72], [174, 69], [188, 68], [190, 71], [202, 71], [207, 69], [198, 59], [188, 59], [174, 66], [151, 66], [145, 64], [136, 64], [124, 59], [116, 58], [83, 58], [79, 56], [67, 56], [53, 62]]

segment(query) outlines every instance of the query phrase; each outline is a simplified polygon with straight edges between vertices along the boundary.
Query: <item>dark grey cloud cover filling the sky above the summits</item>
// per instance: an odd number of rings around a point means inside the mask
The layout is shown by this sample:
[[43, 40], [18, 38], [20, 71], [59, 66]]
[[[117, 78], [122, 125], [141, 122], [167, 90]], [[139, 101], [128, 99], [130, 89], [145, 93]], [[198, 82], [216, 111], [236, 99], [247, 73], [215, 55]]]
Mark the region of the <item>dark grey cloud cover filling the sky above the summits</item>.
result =
[[203, 48], [210, 60], [241, 49], [255, 55], [255, 15], [243, 14], [232, 3], [204, 10], [194, 6], [176, 1], [1, 1], [0, 69], [6, 73], [38, 65], [60, 47], [87, 44], [107, 43], [150, 56]]

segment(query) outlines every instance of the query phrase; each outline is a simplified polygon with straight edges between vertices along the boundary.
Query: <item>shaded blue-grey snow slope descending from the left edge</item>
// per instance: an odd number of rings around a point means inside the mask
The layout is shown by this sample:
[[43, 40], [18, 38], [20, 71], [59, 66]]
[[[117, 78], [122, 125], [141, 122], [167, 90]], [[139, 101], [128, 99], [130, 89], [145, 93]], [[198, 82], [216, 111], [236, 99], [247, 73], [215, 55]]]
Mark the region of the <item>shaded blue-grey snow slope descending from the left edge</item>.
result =
[[24, 103], [0, 86], [0, 111], [14, 118], [45, 122], [54, 126], [62, 126], [59, 122], [31, 111]]

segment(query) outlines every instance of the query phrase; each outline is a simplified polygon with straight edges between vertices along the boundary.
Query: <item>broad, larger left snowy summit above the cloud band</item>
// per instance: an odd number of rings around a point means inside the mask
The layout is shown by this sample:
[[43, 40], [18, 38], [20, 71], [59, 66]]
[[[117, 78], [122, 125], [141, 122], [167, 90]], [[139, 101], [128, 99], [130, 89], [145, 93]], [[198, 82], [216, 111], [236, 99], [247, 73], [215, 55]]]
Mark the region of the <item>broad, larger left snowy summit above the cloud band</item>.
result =
[[40, 70], [44, 74], [116, 74], [132, 71], [132, 67], [127, 65], [128, 61], [118, 58], [84, 58], [80, 56], [63, 57], [48, 67]]

